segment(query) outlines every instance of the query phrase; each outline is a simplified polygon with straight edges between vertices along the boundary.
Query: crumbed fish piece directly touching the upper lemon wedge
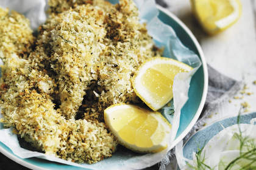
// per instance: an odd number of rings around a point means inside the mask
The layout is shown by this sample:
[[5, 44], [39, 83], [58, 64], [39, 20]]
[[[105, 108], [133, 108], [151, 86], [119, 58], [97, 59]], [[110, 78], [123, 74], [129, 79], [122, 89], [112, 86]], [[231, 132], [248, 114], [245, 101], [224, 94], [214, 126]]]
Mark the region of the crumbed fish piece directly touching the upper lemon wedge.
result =
[[133, 1], [120, 1], [105, 15], [104, 21], [107, 49], [94, 64], [98, 81], [87, 90], [82, 105], [87, 118], [100, 120], [104, 109], [112, 104], [141, 103], [132, 87], [133, 75], [145, 60], [162, 54], [154, 46], [146, 25], [140, 24]]

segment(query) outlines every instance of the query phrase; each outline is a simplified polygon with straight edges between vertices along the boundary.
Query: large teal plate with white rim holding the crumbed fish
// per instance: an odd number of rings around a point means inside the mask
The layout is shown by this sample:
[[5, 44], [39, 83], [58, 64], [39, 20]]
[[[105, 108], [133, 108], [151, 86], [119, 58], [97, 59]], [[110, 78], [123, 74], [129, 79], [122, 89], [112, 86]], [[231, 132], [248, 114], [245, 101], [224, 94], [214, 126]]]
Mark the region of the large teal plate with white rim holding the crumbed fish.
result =
[[[179, 130], [176, 135], [176, 140], [171, 145], [173, 148], [180, 140], [182, 140], [185, 135], [191, 130], [191, 128], [196, 123], [201, 111], [204, 107], [207, 89], [208, 89], [208, 72], [207, 72], [207, 64], [205, 62], [204, 54], [202, 49], [197, 42], [194, 35], [188, 29], [188, 27], [183, 24], [180, 19], [178, 19], [175, 15], [168, 12], [168, 10], [163, 9], [160, 6], [157, 6], [160, 14], [158, 18], [165, 22], [165, 24], [170, 25], [176, 32], [177, 36], [179, 37], [180, 41], [188, 47], [188, 49], [193, 50], [199, 58], [201, 59], [202, 66], [199, 67], [197, 72], [193, 75], [190, 83], [190, 89], [188, 91], [188, 101], [183, 106], [180, 115], [180, 126]], [[70, 165], [63, 165], [60, 163], [55, 163], [48, 160], [43, 160], [40, 158], [20, 158], [17, 157], [10, 151], [10, 149], [5, 146], [3, 143], [0, 142], [0, 152], [6, 155], [16, 163], [20, 165], [26, 166], [30, 169], [38, 169], [38, 170], [46, 170], [46, 169], [69, 169], [69, 170], [79, 170], [79, 169], [86, 169], [86, 168], [79, 168], [76, 166]], [[108, 158], [111, 159], [111, 158]]]

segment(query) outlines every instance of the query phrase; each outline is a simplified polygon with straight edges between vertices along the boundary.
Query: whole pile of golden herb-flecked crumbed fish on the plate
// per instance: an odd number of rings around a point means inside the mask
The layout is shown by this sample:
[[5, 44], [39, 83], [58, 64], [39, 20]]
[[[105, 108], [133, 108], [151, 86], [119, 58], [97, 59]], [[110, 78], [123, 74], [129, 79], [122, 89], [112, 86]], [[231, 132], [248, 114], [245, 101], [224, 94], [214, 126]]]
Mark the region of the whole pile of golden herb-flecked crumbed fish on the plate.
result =
[[161, 52], [131, 0], [116, 5], [50, 0], [49, 5], [49, 19], [28, 57], [34, 39], [28, 21], [4, 22], [10, 35], [24, 41], [6, 36], [2, 42], [13, 47], [0, 46], [1, 121], [46, 154], [95, 163], [111, 157], [117, 145], [105, 126], [104, 109], [140, 103], [131, 79], [144, 60]]

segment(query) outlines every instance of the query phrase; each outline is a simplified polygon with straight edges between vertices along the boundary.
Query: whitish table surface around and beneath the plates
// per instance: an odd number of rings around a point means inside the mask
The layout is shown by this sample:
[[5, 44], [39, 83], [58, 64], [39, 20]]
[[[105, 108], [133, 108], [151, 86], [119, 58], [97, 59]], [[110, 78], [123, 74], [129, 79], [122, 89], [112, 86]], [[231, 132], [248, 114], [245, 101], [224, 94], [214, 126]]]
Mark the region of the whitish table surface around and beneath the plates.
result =
[[[163, 0], [161, 0], [163, 1]], [[241, 0], [243, 14], [235, 25], [225, 32], [215, 36], [206, 35], [199, 26], [190, 9], [188, 0], [165, 0], [168, 10], [178, 16], [194, 33], [205, 54], [207, 63], [219, 72], [243, 81], [252, 95], [245, 95], [243, 99], [230, 99], [218, 108], [219, 114], [213, 114], [207, 119], [212, 123], [221, 118], [238, 114], [241, 103], [247, 101], [251, 108], [249, 112], [256, 111], [256, 86], [252, 83], [256, 80], [256, 2], [254, 0]], [[239, 94], [238, 94], [239, 95]], [[0, 153], [0, 169], [27, 169]], [[149, 169], [157, 169], [154, 166]], [[168, 169], [172, 169], [168, 166]]]

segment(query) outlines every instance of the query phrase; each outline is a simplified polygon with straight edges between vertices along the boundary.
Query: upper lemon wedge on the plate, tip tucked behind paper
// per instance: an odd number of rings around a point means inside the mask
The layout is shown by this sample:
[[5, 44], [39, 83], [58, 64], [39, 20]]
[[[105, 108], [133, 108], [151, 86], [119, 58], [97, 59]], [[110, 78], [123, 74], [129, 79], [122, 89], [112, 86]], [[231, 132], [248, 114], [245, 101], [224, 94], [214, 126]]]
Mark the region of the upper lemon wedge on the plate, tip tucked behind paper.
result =
[[141, 65], [133, 78], [133, 89], [152, 110], [165, 106], [173, 97], [174, 77], [189, 72], [192, 67], [166, 57], [154, 57]]

